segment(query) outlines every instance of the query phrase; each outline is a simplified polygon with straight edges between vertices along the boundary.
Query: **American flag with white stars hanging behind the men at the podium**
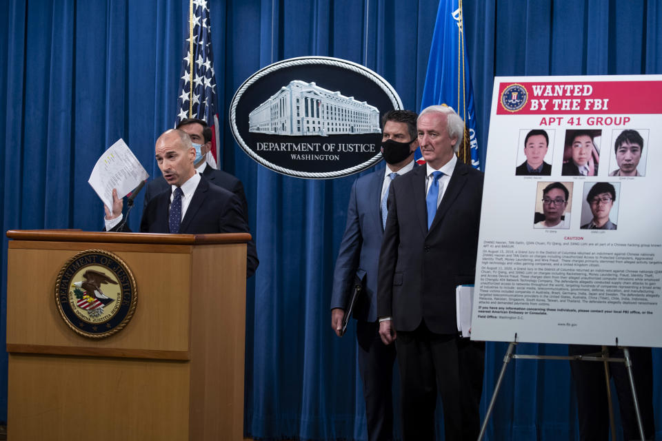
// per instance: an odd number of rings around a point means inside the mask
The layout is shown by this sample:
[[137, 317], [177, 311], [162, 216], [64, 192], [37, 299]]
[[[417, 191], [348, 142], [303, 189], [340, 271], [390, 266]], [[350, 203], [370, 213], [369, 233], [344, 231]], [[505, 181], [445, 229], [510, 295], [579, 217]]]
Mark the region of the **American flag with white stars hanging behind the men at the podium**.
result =
[[[212, 150], [207, 162], [217, 168], [220, 154], [219, 114], [212, 52], [212, 28], [207, 0], [189, 0], [189, 19], [181, 61], [177, 121], [197, 118], [212, 129]], [[191, 89], [191, 85], [193, 88]]]

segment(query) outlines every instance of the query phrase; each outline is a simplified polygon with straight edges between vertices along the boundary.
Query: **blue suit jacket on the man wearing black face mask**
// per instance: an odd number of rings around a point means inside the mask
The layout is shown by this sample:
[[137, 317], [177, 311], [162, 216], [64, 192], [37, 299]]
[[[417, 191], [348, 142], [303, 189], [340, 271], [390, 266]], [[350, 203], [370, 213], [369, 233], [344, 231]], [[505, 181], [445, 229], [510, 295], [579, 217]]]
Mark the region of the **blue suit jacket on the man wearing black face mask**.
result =
[[354, 305], [354, 318], [377, 320], [377, 262], [383, 237], [381, 223], [381, 187], [384, 169], [361, 176], [352, 185], [347, 209], [347, 225], [340, 244], [333, 273], [331, 309], [347, 309], [354, 281], [363, 279], [365, 301]]

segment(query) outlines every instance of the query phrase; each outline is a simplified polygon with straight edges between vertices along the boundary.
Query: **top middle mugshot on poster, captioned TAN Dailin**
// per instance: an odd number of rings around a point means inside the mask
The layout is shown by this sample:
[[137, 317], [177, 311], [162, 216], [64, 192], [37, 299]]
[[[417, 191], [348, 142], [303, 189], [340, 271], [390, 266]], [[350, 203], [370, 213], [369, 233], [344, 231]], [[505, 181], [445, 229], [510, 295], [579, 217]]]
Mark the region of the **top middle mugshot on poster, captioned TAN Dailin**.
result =
[[566, 130], [563, 176], [598, 176], [602, 130]]

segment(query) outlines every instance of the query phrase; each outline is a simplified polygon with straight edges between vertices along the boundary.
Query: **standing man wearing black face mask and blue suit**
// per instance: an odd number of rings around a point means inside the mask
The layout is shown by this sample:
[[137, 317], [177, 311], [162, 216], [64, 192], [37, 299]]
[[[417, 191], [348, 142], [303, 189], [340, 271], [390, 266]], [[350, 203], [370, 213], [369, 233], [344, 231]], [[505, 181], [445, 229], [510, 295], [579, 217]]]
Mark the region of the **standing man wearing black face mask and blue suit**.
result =
[[393, 438], [391, 384], [395, 349], [379, 338], [377, 264], [390, 183], [414, 167], [414, 152], [419, 145], [416, 121], [417, 114], [408, 110], [392, 110], [383, 116], [381, 151], [386, 167], [354, 181], [333, 277], [331, 326], [338, 336], [355, 285], [363, 287], [353, 315], [357, 319], [359, 372], [370, 441]]

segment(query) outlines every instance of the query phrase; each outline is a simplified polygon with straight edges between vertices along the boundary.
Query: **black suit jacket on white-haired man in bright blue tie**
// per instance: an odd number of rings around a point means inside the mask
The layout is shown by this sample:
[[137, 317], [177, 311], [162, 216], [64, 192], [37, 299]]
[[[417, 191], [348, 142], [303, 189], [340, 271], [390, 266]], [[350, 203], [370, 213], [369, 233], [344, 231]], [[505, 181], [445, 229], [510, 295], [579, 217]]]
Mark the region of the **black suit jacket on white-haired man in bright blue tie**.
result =
[[398, 331], [425, 320], [436, 334], [456, 334], [455, 287], [474, 283], [483, 173], [457, 162], [428, 232], [427, 167], [395, 178], [379, 256], [377, 316]]

